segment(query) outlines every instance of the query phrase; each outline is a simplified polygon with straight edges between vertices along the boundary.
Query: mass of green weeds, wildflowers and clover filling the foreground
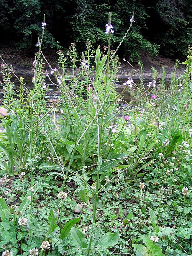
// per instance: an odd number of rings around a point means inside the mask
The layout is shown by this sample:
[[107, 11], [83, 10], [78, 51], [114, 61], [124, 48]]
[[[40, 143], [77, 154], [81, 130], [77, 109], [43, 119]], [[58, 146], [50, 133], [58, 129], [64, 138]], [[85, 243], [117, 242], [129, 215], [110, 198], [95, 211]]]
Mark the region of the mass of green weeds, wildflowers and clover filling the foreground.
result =
[[[9, 111], [0, 141], [2, 256], [191, 255], [192, 47], [185, 74], [175, 78], [177, 61], [168, 86], [164, 67], [158, 86], [153, 67], [144, 84], [140, 63], [140, 83], [128, 77], [133, 99], [122, 107], [113, 32], [109, 14], [108, 47], [87, 42], [79, 59], [72, 43], [66, 57], [58, 51], [57, 68], [41, 51], [42, 35], [30, 90], [20, 77], [16, 91], [14, 70], [1, 66]], [[60, 92], [51, 102], [49, 84]]]

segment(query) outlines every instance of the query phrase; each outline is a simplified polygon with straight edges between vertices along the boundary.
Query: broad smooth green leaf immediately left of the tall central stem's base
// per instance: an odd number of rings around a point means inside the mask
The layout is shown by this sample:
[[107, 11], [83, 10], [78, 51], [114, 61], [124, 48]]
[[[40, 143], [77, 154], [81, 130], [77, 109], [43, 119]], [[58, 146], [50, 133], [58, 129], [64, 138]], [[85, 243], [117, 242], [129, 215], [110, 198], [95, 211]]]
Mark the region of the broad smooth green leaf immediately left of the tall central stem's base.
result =
[[78, 248], [87, 247], [87, 239], [83, 232], [78, 228], [71, 228], [69, 234], [71, 235], [71, 242], [73, 242]]

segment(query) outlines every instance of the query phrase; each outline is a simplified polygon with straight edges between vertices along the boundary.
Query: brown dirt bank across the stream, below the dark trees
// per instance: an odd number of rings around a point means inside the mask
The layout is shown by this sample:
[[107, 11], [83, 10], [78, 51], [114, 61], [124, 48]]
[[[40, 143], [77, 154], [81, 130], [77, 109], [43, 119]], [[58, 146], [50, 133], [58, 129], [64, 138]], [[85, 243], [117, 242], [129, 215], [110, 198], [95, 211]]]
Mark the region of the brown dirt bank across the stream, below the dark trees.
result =
[[[32, 63], [33, 63], [33, 57], [25, 56], [23, 52], [19, 50], [9, 51], [9, 49], [3, 49], [0, 51], [0, 55], [2, 58], [5, 60], [7, 64], [11, 64], [13, 66], [13, 69], [18, 76], [25, 76], [25, 75], [32, 75], [33, 76], [33, 71], [32, 71]], [[45, 54], [46, 55], [46, 54]], [[56, 62], [56, 54], [55, 53], [49, 53], [47, 54], [47, 59], [48, 61], [52, 64], [52, 67], [57, 66]], [[164, 66], [166, 74], [165, 78], [167, 80], [170, 79], [171, 73], [174, 71], [174, 60], [168, 59], [168, 58], [163, 58], [156, 56], [153, 59], [149, 58], [148, 56], [141, 56], [141, 61], [143, 62], [143, 78], [151, 80], [153, 76], [153, 72], [151, 70], [151, 66], [154, 66], [154, 68], [157, 69], [159, 72], [158, 78], [162, 77], [162, 66]], [[0, 63], [2, 61], [0, 60]], [[46, 67], [48, 70], [48, 66]], [[131, 75], [131, 72], [133, 71], [133, 78], [139, 78], [140, 75], [140, 70], [139, 70], [139, 65], [137, 63], [133, 64], [128, 64], [126, 61], [121, 60], [121, 66], [118, 71], [118, 79], [120, 81], [125, 81], [127, 80], [127, 77]], [[185, 65], [180, 64], [177, 68], [176, 76], [179, 77], [181, 74], [185, 72]]]

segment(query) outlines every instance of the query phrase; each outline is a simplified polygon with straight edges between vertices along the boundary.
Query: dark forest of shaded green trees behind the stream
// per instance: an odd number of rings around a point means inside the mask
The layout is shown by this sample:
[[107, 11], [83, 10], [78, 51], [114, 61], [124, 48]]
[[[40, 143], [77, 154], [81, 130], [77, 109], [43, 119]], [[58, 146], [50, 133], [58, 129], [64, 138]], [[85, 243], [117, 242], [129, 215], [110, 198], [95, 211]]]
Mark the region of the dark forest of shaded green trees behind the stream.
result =
[[182, 58], [192, 43], [192, 0], [0, 0], [0, 46], [36, 52], [44, 14], [44, 48], [65, 50], [76, 42], [82, 51], [89, 40], [104, 46], [109, 11], [115, 30], [112, 48], [122, 40], [135, 13], [118, 53], [129, 60], [143, 52]]

